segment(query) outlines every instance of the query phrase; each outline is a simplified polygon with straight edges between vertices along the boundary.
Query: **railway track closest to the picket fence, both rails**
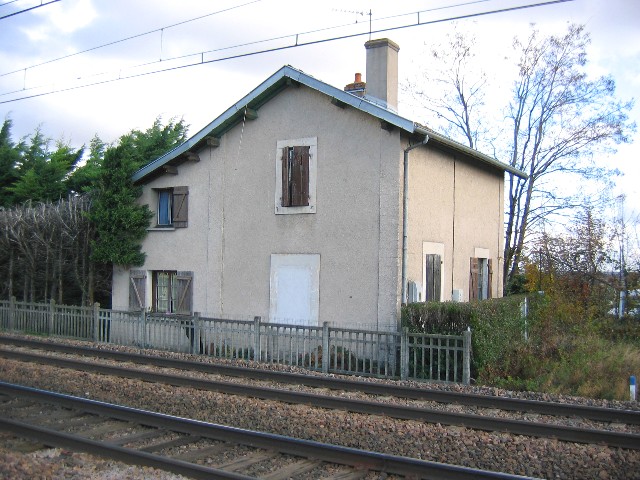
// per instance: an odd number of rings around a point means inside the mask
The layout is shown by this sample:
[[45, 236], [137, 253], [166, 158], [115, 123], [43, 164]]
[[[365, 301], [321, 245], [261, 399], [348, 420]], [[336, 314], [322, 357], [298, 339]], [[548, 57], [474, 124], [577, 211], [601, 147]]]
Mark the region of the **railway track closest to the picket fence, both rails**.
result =
[[[51, 350], [59, 353], [84, 355], [100, 358], [109, 358], [120, 362], [134, 362], [144, 365], [160, 366], [203, 373], [215, 373], [233, 376], [251, 376], [259, 380], [278, 381], [280, 383], [304, 383], [308, 386], [339, 389], [358, 390], [375, 395], [404, 397], [420, 400], [450, 402], [460, 404], [473, 404], [491, 409], [503, 408], [508, 410], [520, 410], [522, 412], [541, 411], [547, 415], [580, 416], [605, 423], [624, 423], [628, 425], [640, 424], [640, 411], [607, 409], [601, 407], [585, 407], [546, 402], [508, 399], [481, 395], [467, 396], [454, 392], [443, 392], [422, 388], [396, 387], [388, 384], [373, 382], [348, 381], [330, 377], [305, 376], [283, 372], [273, 372], [257, 369], [243, 369], [239, 367], [205, 364], [201, 362], [187, 362], [164, 357], [154, 357], [139, 354], [91, 349], [87, 347], [72, 347], [69, 345], [51, 344], [32, 340], [17, 340], [2, 338], [0, 343], [11, 343], [14, 346]], [[297, 392], [286, 389], [258, 387], [247, 384], [232, 383], [198, 379], [185, 375], [158, 373], [150, 370], [139, 370], [121, 366], [103, 365], [92, 362], [59, 358], [51, 355], [28, 353], [16, 350], [0, 349], [0, 356], [4, 358], [46, 363], [60, 368], [76, 369], [84, 372], [93, 372], [104, 375], [114, 375], [123, 378], [137, 379], [147, 382], [165, 383], [180, 387], [196, 388], [200, 390], [215, 391], [224, 394], [244, 395], [266, 400], [275, 400], [286, 403], [298, 403], [313, 407], [346, 410], [350, 412], [369, 415], [383, 415], [390, 418], [404, 420], [419, 420], [443, 425], [461, 426], [477, 430], [507, 432], [510, 434], [527, 435], [534, 437], [550, 437], [568, 442], [592, 443], [608, 445], [626, 449], [640, 450], [640, 435], [606, 430], [604, 428], [580, 428], [565, 425], [557, 425], [549, 422], [540, 423], [526, 420], [514, 420], [498, 418], [491, 415], [465, 414], [460, 412], [448, 412], [415, 406], [398, 405], [388, 402], [363, 401], [345, 398], [343, 396], [318, 395], [315, 393]], [[473, 403], [476, 402], [476, 403]]]

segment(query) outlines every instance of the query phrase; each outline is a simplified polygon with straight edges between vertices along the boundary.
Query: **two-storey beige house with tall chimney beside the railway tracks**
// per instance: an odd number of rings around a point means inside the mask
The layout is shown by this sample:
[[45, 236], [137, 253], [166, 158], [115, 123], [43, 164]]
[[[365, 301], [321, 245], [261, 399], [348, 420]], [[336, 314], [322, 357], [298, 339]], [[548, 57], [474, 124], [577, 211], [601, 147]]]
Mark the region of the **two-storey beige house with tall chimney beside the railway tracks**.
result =
[[344, 89], [285, 66], [134, 175], [157, 212], [115, 309], [397, 328], [401, 303], [502, 295], [508, 165], [397, 112], [398, 50]]

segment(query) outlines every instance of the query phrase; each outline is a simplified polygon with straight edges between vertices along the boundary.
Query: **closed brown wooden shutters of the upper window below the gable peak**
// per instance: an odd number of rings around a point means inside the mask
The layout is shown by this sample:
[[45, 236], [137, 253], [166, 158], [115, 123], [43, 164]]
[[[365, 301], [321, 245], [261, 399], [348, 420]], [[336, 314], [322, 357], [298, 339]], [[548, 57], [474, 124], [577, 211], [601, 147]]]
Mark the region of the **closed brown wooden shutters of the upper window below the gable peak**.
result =
[[282, 149], [282, 206], [309, 205], [309, 147]]

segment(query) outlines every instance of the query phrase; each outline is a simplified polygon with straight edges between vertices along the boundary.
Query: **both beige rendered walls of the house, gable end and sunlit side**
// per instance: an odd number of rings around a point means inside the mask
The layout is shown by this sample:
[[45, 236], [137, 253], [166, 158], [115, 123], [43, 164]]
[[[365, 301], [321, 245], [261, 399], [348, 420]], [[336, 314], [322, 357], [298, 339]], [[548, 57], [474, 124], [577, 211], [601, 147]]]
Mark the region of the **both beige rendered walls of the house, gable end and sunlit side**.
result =
[[[324, 94], [290, 87], [258, 118], [199, 152], [178, 175], [145, 185], [189, 187], [189, 226], [151, 230], [141, 269], [192, 271], [193, 309], [227, 318], [268, 318], [272, 254], [319, 254], [319, 323], [394, 328], [399, 318], [403, 148], [398, 130], [331, 104]], [[316, 213], [275, 214], [278, 141], [317, 138]], [[503, 175], [440, 150], [409, 153], [407, 278], [423, 285], [425, 245], [442, 245], [443, 300], [469, 298], [469, 259], [493, 259], [501, 295]], [[128, 306], [129, 272], [114, 269], [114, 308]], [[151, 304], [148, 276], [147, 305]], [[277, 319], [273, 319], [277, 321]]]

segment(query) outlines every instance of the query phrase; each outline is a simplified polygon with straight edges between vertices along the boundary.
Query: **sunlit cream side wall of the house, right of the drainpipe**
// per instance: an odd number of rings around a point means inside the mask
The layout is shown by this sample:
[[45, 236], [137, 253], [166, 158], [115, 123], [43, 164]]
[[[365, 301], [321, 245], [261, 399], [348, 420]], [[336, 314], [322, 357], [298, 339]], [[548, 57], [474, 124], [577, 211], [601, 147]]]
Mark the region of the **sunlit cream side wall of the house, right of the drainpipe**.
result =
[[493, 260], [492, 294], [502, 296], [503, 174], [427, 144], [410, 151], [409, 178], [407, 279], [424, 290], [425, 243], [442, 244], [442, 299], [460, 289], [466, 301], [469, 260], [483, 249]]

